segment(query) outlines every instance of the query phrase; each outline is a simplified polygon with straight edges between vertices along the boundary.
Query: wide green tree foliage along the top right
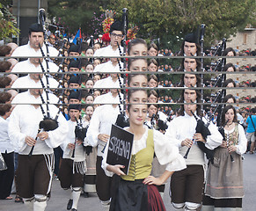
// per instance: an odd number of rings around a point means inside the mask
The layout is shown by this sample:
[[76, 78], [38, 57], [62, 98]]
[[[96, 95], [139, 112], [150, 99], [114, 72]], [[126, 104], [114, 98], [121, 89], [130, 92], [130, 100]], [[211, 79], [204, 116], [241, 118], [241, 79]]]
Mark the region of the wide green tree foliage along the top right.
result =
[[203, 23], [209, 44], [229, 38], [248, 23], [255, 25], [255, 6], [255, 0], [110, 0], [108, 9], [121, 12], [127, 7], [129, 20], [143, 37], [185, 35]]

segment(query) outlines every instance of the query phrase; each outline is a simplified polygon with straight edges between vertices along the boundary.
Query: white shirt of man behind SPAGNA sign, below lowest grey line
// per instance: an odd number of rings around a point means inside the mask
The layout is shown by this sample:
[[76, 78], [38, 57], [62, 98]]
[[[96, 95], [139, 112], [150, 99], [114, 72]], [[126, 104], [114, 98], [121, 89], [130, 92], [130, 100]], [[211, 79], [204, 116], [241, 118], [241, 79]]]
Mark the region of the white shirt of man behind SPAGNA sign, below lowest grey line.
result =
[[99, 134], [110, 135], [112, 124], [116, 122], [120, 113], [119, 107], [112, 105], [98, 106], [91, 116], [90, 126], [87, 130], [86, 142], [92, 147], [98, 145], [98, 156], [102, 156], [102, 149], [106, 146], [106, 142], [98, 139]]

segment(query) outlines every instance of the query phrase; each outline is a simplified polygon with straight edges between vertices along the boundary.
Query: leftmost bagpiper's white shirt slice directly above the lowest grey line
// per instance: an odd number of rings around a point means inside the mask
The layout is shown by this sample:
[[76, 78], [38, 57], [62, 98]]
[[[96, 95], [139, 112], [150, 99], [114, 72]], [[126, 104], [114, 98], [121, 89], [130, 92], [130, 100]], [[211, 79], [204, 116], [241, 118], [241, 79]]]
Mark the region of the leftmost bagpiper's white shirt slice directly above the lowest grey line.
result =
[[[56, 97], [54, 94], [49, 93], [49, 103], [50, 104], [57, 104], [59, 102], [59, 98]], [[42, 93], [42, 98], [47, 102], [47, 94], [45, 91]], [[41, 104], [40, 96], [35, 98], [29, 91], [25, 91], [22, 93], [18, 93], [15, 98], [12, 99], [11, 104]], [[46, 110], [45, 110], [46, 111]]]

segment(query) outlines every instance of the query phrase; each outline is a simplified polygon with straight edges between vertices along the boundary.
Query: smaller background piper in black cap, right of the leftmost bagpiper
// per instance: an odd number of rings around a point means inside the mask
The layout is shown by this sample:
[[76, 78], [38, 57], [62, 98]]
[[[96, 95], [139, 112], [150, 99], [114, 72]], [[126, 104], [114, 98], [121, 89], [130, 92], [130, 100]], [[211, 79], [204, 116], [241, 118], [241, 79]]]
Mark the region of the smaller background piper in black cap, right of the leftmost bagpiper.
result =
[[[61, 145], [63, 156], [59, 171], [59, 179], [64, 190], [71, 188], [67, 209], [76, 211], [80, 193], [84, 186], [83, 179], [86, 171], [84, 151], [85, 133], [83, 133], [84, 138], [77, 137], [75, 134], [77, 123], [80, 123], [78, 121], [81, 115], [81, 106], [69, 105], [68, 111], [70, 116], [70, 120], [68, 120], [69, 130], [65, 141]], [[78, 127], [78, 129], [82, 129], [81, 127], [85, 127], [85, 125], [83, 124], [80, 128]]]

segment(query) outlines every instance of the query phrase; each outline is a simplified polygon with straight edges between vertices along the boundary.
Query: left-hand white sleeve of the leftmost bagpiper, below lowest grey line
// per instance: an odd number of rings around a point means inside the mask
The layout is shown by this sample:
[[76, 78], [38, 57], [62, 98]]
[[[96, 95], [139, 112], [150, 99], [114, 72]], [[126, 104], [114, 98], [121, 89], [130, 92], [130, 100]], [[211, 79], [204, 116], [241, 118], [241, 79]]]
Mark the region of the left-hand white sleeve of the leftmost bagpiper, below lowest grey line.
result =
[[10, 116], [10, 122], [8, 125], [8, 135], [10, 137], [10, 142], [15, 151], [23, 151], [26, 148], [26, 134], [22, 134], [20, 132], [20, 125], [19, 125], [19, 115], [18, 113], [22, 112], [19, 111], [18, 107], [16, 106]]

